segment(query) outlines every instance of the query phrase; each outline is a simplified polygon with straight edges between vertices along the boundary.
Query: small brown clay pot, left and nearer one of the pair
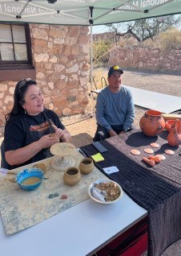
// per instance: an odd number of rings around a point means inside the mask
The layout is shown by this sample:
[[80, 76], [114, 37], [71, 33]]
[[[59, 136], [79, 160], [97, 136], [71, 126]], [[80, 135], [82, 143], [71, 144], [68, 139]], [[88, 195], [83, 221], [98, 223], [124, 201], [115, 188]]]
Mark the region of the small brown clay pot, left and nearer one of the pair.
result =
[[70, 186], [77, 184], [80, 178], [81, 178], [80, 171], [76, 167], [67, 168], [63, 174], [63, 180], [65, 184]]

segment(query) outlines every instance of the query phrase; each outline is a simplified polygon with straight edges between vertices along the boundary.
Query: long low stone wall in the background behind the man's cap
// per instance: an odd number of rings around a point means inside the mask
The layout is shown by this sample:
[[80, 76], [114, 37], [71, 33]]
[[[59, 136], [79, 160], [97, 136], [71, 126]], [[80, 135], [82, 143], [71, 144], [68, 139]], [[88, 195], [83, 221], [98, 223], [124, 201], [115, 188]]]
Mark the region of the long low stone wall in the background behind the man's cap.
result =
[[110, 53], [109, 66], [155, 71], [181, 72], [181, 49], [161, 51], [153, 48], [116, 47]]

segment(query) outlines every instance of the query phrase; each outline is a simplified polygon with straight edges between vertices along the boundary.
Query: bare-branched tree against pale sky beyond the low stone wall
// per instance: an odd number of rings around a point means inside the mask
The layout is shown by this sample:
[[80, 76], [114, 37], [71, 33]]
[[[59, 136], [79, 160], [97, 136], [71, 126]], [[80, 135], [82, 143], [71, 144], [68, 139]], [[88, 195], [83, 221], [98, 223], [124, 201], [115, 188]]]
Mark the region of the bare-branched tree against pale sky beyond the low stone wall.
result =
[[139, 19], [127, 23], [109, 24], [107, 27], [110, 31], [115, 32], [115, 43], [119, 37], [124, 35], [132, 35], [138, 42], [143, 42], [147, 39], [154, 40], [156, 35], [167, 31], [172, 27], [176, 27], [181, 23], [181, 16], [175, 15], [155, 17], [151, 19]]

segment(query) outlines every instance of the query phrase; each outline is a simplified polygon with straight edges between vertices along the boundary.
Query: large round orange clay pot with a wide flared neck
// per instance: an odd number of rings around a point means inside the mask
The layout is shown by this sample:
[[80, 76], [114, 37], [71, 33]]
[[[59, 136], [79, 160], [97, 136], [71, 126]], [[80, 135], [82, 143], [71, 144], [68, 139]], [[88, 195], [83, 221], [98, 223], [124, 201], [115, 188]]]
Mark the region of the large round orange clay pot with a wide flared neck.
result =
[[157, 110], [149, 109], [145, 112], [139, 121], [139, 126], [143, 134], [154, 137], [161, 134], [165, 128], [165, 121], [163, 114]]

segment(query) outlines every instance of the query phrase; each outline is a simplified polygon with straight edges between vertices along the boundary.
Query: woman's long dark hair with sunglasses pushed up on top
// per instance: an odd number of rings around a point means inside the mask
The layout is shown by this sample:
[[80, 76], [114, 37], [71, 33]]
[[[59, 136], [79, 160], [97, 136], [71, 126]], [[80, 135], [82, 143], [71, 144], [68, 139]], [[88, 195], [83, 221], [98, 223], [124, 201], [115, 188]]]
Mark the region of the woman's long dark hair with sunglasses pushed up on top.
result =
[[25, 109], [22, 108], [22, 105], [25, 103], [25, 93], [30, 85], [37, 85], [37, 82], [30, 78], [18, 81], [14, 89], [14, 106], [10, 113], [6, 114], [6, 122], [10, 120], [10, 118], [25, 114]]

